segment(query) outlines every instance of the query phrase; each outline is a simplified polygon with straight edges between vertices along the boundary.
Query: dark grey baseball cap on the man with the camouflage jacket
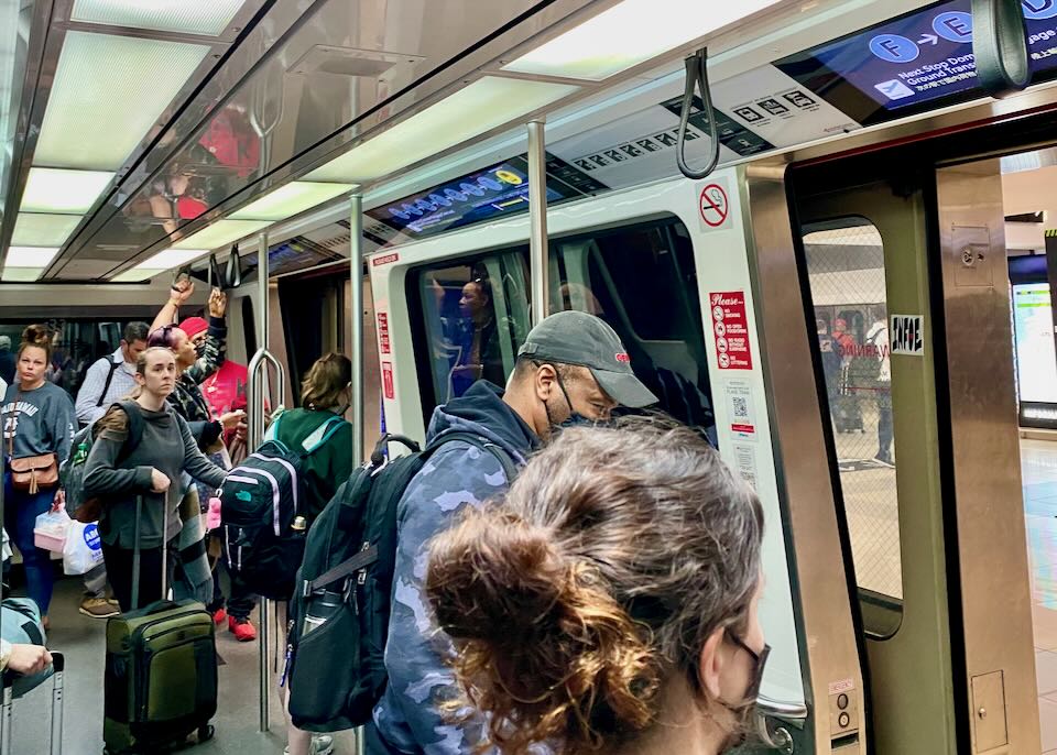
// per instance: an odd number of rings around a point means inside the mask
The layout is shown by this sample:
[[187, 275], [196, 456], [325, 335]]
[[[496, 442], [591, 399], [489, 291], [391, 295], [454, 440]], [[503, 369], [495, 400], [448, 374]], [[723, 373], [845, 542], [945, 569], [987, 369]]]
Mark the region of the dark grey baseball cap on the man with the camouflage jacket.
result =
[[631, 357], [604, 320], [582, 311], [559, 311], [528, 331], [519, 357], [586, 366], [599, 387], [621, 406], [641, 408], [657, 397], [635, 378]]

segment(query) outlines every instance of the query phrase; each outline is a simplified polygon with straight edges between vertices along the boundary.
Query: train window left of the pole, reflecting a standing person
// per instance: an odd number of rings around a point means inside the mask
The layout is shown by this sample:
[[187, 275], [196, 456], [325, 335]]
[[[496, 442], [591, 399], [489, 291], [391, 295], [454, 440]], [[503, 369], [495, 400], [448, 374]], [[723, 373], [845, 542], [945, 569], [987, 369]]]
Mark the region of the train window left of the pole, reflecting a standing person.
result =
[[527, 250], [418, 267], [410, 283], [412, 311], [417, 308], [425, 325], [416, 352], [428, 360], [432, 403], [422, 386], [427, 417], [478, 380], [504, 385], [528, 331]]

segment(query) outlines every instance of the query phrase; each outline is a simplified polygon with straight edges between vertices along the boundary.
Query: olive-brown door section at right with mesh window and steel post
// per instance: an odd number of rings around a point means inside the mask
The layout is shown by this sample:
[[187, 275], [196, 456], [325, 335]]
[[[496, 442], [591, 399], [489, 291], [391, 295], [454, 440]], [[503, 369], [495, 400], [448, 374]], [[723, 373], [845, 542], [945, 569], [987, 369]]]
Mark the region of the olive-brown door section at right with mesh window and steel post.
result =
[[[808, 332], [772, 357], [814, 375], [778, 402], [804, 419], [814, 383], [826, 407], [875, 752], [1034, 755], [999, 163], [872, 164], [791, 172], [792, 215], [782, 171], [749, 169], [764, 328], [799, 309]], [[780, 442], [803, 429], [780, 419]]]

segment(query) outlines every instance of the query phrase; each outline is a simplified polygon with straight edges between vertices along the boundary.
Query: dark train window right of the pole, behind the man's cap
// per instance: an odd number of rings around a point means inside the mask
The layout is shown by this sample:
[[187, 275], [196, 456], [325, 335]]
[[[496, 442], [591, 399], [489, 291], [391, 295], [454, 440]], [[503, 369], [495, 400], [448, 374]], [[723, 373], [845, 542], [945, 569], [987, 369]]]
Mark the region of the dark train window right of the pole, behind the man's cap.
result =
[[551, 308], [598, 315], [618, 332], [658, 408], [716, 442], [694, 250], [676, 219], [553, 242]]

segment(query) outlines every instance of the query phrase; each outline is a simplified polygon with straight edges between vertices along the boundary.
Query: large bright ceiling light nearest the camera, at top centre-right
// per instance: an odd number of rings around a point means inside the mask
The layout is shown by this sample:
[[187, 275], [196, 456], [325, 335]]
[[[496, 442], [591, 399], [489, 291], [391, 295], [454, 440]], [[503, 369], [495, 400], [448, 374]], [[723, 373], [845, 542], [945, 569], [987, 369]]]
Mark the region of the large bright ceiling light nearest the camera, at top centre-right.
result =
[[601, 81], [740, 21], [778, 0], [623, 0], [503, 66]]

